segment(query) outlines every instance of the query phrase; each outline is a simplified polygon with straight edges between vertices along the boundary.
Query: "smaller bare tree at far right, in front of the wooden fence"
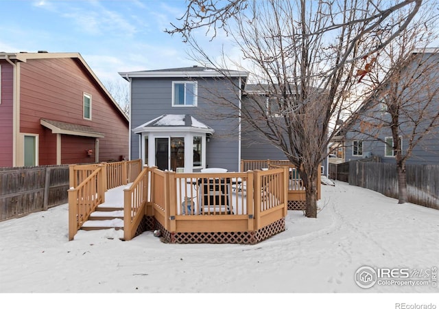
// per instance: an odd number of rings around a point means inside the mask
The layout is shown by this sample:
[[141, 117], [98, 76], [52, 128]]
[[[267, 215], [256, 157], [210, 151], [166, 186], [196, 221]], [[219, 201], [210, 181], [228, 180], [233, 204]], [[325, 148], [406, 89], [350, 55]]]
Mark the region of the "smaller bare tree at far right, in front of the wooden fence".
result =
[[[438, 12], [437, 3], [430, 4], [381, 51], [385, 61], [377, 62], [376, 74], [387, 72], [387, 76], [356, 129], [366, 140], [381, 141], [392, 150], [401, 204], [407, 202], [407, 159], [439, 127], [439, 49], [427, 48], [438, 38]], [[384, 132], [392, 139], [385, 139]]]

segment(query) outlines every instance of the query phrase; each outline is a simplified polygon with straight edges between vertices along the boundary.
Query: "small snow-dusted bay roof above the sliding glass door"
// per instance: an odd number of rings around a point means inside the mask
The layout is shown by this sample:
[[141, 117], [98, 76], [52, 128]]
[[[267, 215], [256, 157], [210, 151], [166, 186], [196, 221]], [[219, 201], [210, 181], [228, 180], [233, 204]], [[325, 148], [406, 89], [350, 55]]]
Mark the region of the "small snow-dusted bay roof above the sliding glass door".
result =
[[215, 130], [191, 115], [161, 115], [133, 129], [134, 133], [151, 131], [185, 131], [213, 134]]

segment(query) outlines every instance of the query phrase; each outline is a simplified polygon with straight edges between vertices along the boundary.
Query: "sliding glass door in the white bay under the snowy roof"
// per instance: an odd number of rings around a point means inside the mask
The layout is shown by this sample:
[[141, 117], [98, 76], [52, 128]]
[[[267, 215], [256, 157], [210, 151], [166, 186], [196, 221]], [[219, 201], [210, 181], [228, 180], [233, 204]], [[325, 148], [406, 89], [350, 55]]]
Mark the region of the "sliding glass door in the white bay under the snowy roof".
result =
[[156, 165], [160, 170], [173, 170], [185, 167], [185, 138], [156, 138]]

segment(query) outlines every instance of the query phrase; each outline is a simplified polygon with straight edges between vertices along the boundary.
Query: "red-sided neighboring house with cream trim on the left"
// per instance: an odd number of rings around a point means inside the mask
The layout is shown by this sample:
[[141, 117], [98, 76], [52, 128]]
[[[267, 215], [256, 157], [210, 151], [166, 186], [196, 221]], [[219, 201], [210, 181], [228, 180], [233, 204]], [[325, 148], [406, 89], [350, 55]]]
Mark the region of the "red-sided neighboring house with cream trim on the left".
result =
[[78, 53], [0, 53], [0, 167], [128, 158], [128, 117]]

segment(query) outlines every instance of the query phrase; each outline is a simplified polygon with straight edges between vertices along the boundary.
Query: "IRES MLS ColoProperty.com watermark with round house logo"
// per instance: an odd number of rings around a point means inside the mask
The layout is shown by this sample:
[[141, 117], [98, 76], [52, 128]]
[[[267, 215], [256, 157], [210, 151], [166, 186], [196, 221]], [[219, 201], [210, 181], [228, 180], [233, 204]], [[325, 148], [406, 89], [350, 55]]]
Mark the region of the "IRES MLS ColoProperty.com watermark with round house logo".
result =
[[380, 286], [438, 286], [438, 268], [372, 268], [361, 266], [355, 272], [355, 283], [360, 288]]

